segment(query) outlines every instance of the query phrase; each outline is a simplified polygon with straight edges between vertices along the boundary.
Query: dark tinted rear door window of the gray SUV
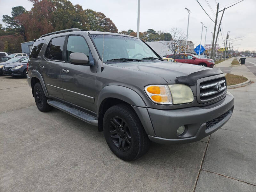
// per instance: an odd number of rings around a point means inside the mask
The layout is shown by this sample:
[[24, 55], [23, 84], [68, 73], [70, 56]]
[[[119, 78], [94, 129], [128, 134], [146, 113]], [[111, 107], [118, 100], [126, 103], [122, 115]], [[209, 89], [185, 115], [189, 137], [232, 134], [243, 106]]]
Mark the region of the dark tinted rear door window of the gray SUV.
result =
[[65, 36], [52, 39], [50, 45], [49, 59], [62, 60], [62, 50], [65, 41]]

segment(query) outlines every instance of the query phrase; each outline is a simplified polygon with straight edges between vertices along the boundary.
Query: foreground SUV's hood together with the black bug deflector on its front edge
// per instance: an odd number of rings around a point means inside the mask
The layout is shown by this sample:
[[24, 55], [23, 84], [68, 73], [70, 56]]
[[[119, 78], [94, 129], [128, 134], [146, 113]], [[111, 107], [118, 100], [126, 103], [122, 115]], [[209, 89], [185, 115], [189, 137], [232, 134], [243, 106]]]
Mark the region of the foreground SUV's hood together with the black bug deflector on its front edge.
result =
[[[148, 74], [155, 74], [161, 76], [167, 81], [167, 83], [183, 83], [191, 84], [186, 82], [194, 78], [199, 79], [205, 76], [212, 76], [222, 74], [220, 70], [213, 68], [207, 68], [199, 65], [192, 65], [187, 63], [178, 63], [178, 62], [166, 62], [166, 61], [156, 61], [156, 62], [121, 62], [121, 63], [108, 63], [109, 65], [129, 68], [133, 70], [143, 71]], [[177, 78], [178, 77], [178, 78]], [[188, 77], [180, 78], [180, 77]], [[179, 80], [178, 80], [179, 79]], [[185, 81], [184, 81], [185, 80]], [[196, 81], [193, 81], [193, 84]]]

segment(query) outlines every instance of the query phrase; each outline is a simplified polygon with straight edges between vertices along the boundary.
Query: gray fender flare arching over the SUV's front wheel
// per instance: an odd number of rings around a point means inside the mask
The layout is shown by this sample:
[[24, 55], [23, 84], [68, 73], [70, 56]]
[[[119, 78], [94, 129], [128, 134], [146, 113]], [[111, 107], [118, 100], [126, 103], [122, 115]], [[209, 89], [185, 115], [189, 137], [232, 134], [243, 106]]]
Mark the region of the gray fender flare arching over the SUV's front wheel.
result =
[[99, 112], [100, 104], [106, 98], [116, 98], [132, 106], [146, 107], [140, 95], [132, 89], [120, 85], [108, 85], [100, 91], [97, 98], [97, 113]]

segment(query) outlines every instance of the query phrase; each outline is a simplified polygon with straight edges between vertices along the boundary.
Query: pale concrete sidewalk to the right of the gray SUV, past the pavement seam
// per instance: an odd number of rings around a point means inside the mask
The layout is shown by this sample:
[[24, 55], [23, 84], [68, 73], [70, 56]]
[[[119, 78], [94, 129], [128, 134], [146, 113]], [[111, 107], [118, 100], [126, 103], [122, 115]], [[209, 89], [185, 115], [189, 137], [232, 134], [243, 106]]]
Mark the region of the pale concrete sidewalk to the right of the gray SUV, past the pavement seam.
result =
[[[220, 63], [223, 69], [228, 61]], [[256, 80], [245, 65], [230, 68], [232, 74]], [[196, 192], [256, 191], [256, 85], [228, 91], [235, 96], [233, 115], [208, 141]]]

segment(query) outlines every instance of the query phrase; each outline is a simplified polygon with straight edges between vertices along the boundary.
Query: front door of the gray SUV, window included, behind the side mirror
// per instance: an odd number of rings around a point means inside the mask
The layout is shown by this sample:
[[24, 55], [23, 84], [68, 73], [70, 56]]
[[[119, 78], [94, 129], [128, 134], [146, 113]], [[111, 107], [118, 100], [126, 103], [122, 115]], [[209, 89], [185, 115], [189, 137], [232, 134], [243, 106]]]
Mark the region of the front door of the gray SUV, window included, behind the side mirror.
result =
[[93, 60], [88, 44], [83, 36], [69, 35], [66, 49], [66, 61], [61, 66], [61, 83], [64, 100], [79, 107], [95, 111], [96, 70], [97, 66], [74, 65], [69, 55], [80, 52]]

